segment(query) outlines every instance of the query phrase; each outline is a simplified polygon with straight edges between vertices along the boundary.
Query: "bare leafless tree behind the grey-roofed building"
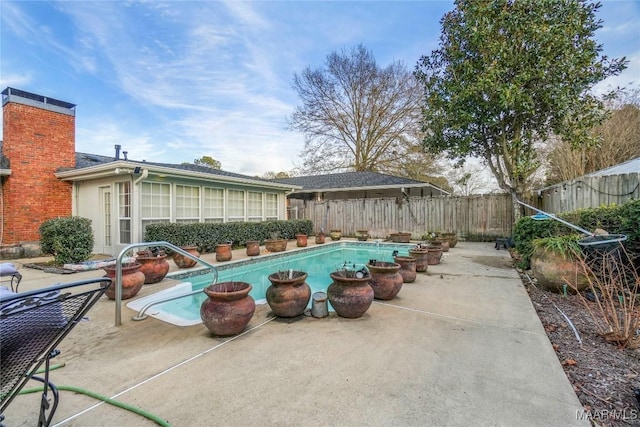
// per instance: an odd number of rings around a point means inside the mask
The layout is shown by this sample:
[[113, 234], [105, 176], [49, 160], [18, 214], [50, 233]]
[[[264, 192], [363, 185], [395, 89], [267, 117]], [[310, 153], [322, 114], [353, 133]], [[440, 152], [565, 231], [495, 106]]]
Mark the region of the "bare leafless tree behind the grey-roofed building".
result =
[[400, 62], [379, 67], [362, 45], [294, 74], [293, 88], [302, 100], [289, 119], [305, 135], [301, 172], [390, 172], [420, 144], [418, 81]]

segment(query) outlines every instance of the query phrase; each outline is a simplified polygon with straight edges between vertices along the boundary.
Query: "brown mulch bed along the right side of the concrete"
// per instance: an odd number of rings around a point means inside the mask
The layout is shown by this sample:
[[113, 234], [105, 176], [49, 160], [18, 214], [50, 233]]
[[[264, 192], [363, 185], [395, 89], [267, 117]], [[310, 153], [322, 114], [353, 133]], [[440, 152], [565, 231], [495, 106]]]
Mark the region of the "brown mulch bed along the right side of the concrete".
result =
[[579, 296], [545, 291], [522, 276], [587, 419], [598, 426], [640, 426], [640, 401], [634, 393], [640, 389], [640, 349], [622, 350], [606, 342]]

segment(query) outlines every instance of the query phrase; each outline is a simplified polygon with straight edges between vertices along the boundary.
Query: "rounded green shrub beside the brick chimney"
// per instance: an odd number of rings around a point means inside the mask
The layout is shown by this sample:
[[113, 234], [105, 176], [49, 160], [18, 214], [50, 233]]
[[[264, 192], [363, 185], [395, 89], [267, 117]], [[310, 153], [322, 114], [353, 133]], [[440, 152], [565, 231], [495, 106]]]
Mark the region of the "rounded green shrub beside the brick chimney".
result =
[[93, 251], [91, 220], [79, 216], [52, 218], [40, 225], [40, 249], [58, 265], [86, 261]]

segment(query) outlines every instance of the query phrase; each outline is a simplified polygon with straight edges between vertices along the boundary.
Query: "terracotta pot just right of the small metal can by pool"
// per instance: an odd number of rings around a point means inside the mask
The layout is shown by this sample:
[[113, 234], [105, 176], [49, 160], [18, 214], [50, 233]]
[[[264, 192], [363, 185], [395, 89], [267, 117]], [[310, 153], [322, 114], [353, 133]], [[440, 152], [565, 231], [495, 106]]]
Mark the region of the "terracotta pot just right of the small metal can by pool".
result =
[[344, 277], [338, 272], [330, 274], [333, 282], [327, 288], [327, 297], [336, 314], [341, 317], [361, 317], [371, 307], [373, 288], [371, 276]]

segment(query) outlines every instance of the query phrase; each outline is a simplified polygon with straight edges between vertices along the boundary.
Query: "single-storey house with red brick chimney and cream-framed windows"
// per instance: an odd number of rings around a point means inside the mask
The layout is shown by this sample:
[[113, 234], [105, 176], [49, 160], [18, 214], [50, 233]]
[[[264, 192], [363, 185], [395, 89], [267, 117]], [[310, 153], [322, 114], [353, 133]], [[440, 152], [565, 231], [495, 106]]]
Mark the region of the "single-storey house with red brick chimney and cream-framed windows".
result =
[[233, 222], [286, 218], [290, 184], [192, 164], [75, 151], [75, 105], [7, 88], [2, 92], [4, 258], [37, 253], [40, 224], [91, 219], [94, 253], [117, 255], [157, 222]]

